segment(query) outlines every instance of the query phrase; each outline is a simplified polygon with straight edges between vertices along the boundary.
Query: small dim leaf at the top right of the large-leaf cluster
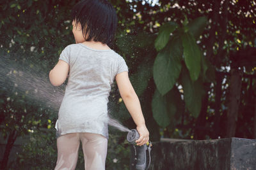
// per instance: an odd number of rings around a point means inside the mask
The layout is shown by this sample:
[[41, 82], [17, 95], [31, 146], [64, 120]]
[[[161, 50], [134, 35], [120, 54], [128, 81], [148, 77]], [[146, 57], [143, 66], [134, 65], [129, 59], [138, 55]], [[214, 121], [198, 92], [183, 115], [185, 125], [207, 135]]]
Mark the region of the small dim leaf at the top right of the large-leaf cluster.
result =
[[206, 25], [207, 17], [195, 18], [195, 20], [192, 20], [188, 24], [189, 32], [197, 39], [204, 32]]

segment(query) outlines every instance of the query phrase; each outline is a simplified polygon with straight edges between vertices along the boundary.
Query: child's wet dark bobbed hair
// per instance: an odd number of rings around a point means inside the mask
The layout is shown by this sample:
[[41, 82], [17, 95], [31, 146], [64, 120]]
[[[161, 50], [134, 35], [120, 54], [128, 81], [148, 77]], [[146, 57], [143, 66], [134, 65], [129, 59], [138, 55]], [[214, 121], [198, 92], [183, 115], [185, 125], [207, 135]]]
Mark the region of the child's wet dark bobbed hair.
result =
[[107, 0], [80, 1], [72, 9], [72, 20], [76, 26], [80, 22], [85, 41], [100, 41], [108, 45], [113, 42], [117, 16]]

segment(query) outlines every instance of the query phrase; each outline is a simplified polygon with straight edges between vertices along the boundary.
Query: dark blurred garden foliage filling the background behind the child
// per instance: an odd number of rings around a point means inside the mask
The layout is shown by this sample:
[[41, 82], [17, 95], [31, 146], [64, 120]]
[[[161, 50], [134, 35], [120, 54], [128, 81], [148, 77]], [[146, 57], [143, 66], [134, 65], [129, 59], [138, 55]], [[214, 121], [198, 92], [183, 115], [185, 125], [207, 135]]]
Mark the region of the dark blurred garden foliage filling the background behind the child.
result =
[[[0, 1], [0, 169], [54, 169], [65, 85], [48, 73], [75, 43], [75, 0]], [[151, 141], [256, 139], [256, 1], [111, 0]], [[116, 83], [109, 114], [134, 129]], [[126, 132], [109, 129], [106, 169], [129, 169]], [[76, 169], [84, 169], [79, 150]]]

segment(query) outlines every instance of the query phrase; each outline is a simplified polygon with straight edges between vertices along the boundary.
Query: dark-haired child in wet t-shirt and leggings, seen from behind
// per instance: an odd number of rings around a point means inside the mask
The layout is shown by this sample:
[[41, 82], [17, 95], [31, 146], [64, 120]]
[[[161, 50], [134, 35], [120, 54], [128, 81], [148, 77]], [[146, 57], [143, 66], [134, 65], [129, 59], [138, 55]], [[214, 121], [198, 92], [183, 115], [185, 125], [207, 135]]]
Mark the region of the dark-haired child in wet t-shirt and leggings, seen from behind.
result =
[[140, 101], [132, 88], [125, 60], [109, 48], [115, 36], [116, 11], [107, 0], [84, 0], [72, 9], [76, 44], [60, 54], [49, 78], [54, 86], [67, 78], [65, 96], [56, 122], [58, 160], [55, 169], [75, 169], [80, 141], [84, 168], [105, 169], [108, 148], [108, 96], [114, 80], [140, 138], [147, 143]]

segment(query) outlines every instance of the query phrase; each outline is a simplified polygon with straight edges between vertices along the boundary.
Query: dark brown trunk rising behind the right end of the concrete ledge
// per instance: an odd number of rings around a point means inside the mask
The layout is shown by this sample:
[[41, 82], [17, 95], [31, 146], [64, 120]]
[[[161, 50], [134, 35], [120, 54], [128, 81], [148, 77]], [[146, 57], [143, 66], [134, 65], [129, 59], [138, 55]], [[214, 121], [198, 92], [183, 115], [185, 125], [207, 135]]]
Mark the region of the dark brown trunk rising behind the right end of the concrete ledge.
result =
[[243, 71], [237, 68], [230, 70], [230, 92], [227, 112], [227, 138], [232, 138], [236, 134], [236, 120], [240, 104], [241, 83]]

